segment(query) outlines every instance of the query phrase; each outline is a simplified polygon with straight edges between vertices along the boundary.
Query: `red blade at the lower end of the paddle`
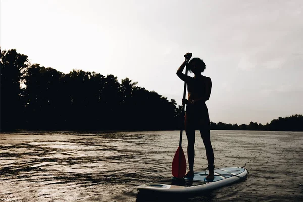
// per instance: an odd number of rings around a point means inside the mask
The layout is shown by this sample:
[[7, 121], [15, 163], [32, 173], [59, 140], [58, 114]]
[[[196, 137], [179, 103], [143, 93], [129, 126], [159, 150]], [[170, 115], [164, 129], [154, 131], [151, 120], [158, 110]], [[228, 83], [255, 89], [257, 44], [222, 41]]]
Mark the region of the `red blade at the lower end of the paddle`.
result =
[[178, 147], [172, 163], [174, 177], [183, 178], [186, 173], [186, 159], [182, 147]]

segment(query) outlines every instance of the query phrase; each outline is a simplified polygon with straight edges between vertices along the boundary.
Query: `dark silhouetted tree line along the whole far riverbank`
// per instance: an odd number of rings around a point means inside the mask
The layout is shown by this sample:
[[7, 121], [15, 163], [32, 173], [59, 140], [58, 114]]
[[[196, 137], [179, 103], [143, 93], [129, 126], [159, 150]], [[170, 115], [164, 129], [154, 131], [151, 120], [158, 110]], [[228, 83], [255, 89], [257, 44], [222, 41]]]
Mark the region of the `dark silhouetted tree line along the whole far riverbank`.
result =
[[[182, 106], [129, 78], [30, 64], [15, 49], [0, 50], [0, 130], [179, 130]], [[303, 131], [302, 115], [265, 126], [211, 122], [213, 130]]]

